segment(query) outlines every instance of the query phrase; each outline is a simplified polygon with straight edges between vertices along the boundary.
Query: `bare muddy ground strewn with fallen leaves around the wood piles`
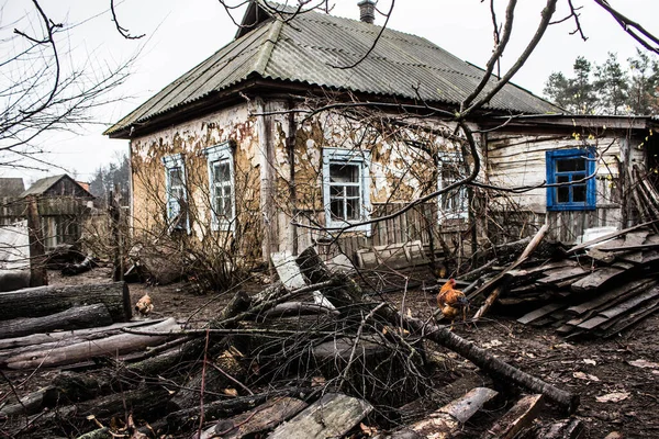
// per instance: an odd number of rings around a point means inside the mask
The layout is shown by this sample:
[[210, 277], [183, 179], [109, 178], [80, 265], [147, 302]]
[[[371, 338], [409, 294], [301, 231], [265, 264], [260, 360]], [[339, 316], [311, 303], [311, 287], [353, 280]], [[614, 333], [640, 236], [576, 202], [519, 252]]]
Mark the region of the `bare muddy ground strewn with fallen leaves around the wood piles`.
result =
[[[432, 283], [432, 277], [426, 274], [421, 278]], [[75, 278], [62, 278], [57, 272], [49, 275], [51, 284], [109, 282], [110, 270], [101, 267]], [[420, 279], [411, 281], [415, 280]], [[399, 283], [404, 284], [403, 281]], [[250, 281], [239, 288], [256, 292], [265, 285]], [[130, 290], [133, 303], [144, 293], [149, 293], [155, 304], [154, 317], [175, 316], [193, 325], [215, 316], [233, 296], [231, 291], [219, 295], [196, 294], [194, 285], [187, 282], [164, 286], [132, 283]], [[415, 317], [428, 317], [435, 308], [434, 295], [421, 288], [390, 292], [383, 297], [398, 307], [404, 303], [405, 309], [410, 308]], [[502, 360], [560, 389], [580, 394], [581, 405], [574, 416], [587, 427], [583, 437], [604, 438], [611, 432], [619, 432], [619, 437], [624, 438], [659, 437], [659, 315], [650, 316], [610, 340], [568, 341], [550, 329], [523, 326], [514, 318], [496, 314], [489, 315], [477, 326], [457, 325], [455, 331]], [[451, 370], [444, 371], [448, 380], [439, 376], [438, 381], [446, 383], [462, 375], [461, 382], [489, 384], [488, 378], [469, 361], [453, 353], [448, 357], [450, 361], [446, 364]], [[623, 399], [596, 399], [611, 394]], [[474, 437], [477, 431], [482, 430], [478, 424], [491, 425], [505, 410], [503, 406], [491, 407], [477, 417], [474, 424], [467, 425], [461, 436]], [[559, 415], [551, 406], [541, 415], [545, 418], [556, 416]]]

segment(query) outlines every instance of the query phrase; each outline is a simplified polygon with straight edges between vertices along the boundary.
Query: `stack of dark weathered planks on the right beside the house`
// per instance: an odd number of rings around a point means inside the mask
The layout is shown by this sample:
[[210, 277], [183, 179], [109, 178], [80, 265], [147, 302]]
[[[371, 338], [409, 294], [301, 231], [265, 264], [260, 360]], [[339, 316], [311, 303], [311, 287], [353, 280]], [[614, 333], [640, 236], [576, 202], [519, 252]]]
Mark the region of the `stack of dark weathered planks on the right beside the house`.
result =
[[530, 308], [517, 322], [567, 337], [612, 337], [659, 309], [659, 234], [645, 224], [511, 270], [499, 305]]

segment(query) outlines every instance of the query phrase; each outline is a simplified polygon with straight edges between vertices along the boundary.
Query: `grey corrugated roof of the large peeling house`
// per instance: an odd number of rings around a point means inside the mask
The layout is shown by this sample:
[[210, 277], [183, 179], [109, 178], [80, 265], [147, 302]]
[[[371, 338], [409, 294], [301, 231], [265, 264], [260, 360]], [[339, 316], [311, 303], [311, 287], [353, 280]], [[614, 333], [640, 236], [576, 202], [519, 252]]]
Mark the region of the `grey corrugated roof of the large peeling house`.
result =
[[[457, 105], [483, 75], [482, 69], [425, 38], [390, 29], [364, 61], [354, 68], [337, 68], [360, 59], [380, 30], [315, 11], [298, 14], [290, 22], [270, 19], [167, 86], [105, 134], [145, 123], [250, 76]], [[485, 91], [495, 81], [492, 78]], [[506, 85], [485, 108], [517, 114], [560, 111], [514, 85]]]

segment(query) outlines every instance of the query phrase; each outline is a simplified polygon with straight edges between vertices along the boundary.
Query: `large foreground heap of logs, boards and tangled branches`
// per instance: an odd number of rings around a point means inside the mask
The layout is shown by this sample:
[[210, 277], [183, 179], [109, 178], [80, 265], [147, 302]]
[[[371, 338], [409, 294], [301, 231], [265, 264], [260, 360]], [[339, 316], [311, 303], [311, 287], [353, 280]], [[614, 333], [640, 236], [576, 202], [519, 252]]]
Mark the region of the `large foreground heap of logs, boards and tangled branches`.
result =
[[[21, 401], [16, 392], [0, 395], [3, 434], [449, 438], [471, 425], [488, 437], [512, 437], [532, 435], [543, 404], [568, 414], [579, 404], [578, 395], [446, 327], [368, 300], [346, 274], [327, 271], [313, 250], [279, 260], [286, 266], [280, 282], [252, 296], [236, 293], [202, 329], [165, 319], [0, 339], [3, 375], [18, 368], [59, 370]], [[141, 349], [131, 352], [126, 345]], [[145, 346], [152, 349], [145, 352]], [[437, 383], [432, 359], [446, 350], [480, 368], [481, 382], [507, 385], [472, 386], [442, 402], [425, 398]], [[404, 416], [409, 404], [423, 413]], [[481, 409], [504, 406], [513, 408], [500, 419], [479, 417]]]

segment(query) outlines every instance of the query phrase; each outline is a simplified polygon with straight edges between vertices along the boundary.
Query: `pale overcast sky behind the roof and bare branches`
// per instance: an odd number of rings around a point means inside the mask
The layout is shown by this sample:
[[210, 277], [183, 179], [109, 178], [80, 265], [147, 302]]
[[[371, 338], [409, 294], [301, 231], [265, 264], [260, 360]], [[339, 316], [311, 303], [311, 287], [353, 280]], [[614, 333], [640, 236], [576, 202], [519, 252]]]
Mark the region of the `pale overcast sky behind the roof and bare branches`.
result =
[[[228, 0], [234, 4], [238, 0]], [[297, 0], [288, 0], [289, 4]], [[636, 44], [615, 21], [592, 0], [572, 0], [582, 5], [581, 24], [588, 41], [583, 42], [574, 31], [573, 21], [554, 25], [544, 41], [514, 78], [513, 82], [538, 94], [552, 71], [571, 74], [574, 58], [585, 56], [603, 63], [608, 52], [626, 60], [636, 53]], [[283, 2], [280, 0], [280, 2]], [[359, 18], [358, 0], [333, 0], [333, 14]], [[608, 0], [610, 4], [625, 15], [659, 35], [658, 0]], [[104, 123], [116, 122], [150, 95], [199, 64], [215, 50], [230, 43], [236, 26], [217, 0], [124, 0], [118, 1], [120, 23], [131, 34], [145, 34], [142, 40], [126, 41], [119, 35], [108, 11], [109, 0], [42, 0], [44, 11], [55, 22], [81, 23], [68, 32], [70, 59], [92, 65], [111, 66], [139, 54], [132, 67], [129, 80], [115, 91], [120, 102], [104, 106], [96, 116]], [[317, 3], [317, 1], [313, 1]], [[504, 1], [498, 1], [500, 7]], [[566, 3], [566, 0], [559, 1]], [[391, 0], [380, 0], [378, 8], [388, 10]], [[520, 1], [513, 29], [513, 40], [503, 58], [503, 69], [516, 59], [535, 32], [545, 1]], [[5, 0], [0, 20], [7, 31], [26, 23], [21, 20], [32, 13], [30, 0]], [[559, 10], [557, 18], [567, 14]], [[499, 12], [503, 18], [503, 11]], [[234, 11], [239, 21], [242, 10]], [[91, 19], [90, 19], [91, 18]], [[376, 24], [382, 24], [378, 16]], [[492, 52], [492, 22], [489, 1], [481, 0], [399, 0], [395, 2], [389, 26], [398, 31], [421, 35], [444, 47], [461, 59], [484, 66]], [[503, 71], [504, 71], [503, 70]], [[49, 162], [65, 168], [78, 180], [89, 181], [94, 169], [127, 151], [127, 140], [110, 140], [101, 133], [102, 126], [87, 128], [81, 134], [57, 133], [44, 136], [41, 146], [51, 153]], [[51, 175], [64, 173], [53, 169]], [[25, 172], [0, 169], [0, 177], [24, 177], [26, 183], [46, 177], [44, 172]]]

